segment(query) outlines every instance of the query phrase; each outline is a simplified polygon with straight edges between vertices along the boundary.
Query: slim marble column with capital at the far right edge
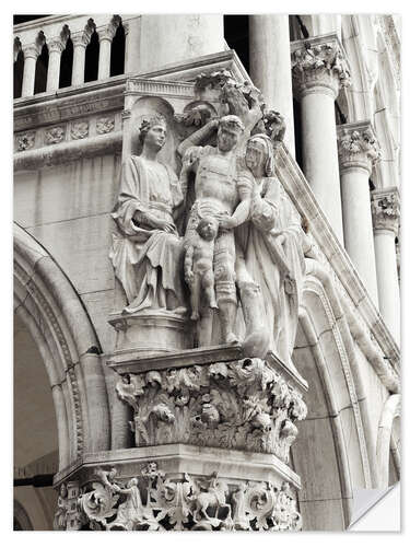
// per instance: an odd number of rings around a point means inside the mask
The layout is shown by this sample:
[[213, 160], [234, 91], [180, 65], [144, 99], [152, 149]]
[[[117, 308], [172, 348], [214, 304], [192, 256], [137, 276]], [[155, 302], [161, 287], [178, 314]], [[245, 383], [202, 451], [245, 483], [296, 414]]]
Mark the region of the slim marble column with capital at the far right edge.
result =
[[399, 344], [400, 293], [395, 240], [399, 230], [400, 201], [396, 187], [372, 193], [372, 214], [379, 310]]

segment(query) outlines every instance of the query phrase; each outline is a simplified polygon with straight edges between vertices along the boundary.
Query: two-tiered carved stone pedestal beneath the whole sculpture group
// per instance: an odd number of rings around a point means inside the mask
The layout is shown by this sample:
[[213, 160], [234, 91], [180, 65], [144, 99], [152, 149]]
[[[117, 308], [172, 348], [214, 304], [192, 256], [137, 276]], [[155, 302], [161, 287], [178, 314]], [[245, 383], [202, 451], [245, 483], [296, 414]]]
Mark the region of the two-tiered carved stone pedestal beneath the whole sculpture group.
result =
[[295, 371], [272, 354], [244, 359], [239, 347], [108, 365], [133, 412], [134, 447], [86, 454], [56, 475], [58, 529], [302, 527], [289, 467], [306, 417]]

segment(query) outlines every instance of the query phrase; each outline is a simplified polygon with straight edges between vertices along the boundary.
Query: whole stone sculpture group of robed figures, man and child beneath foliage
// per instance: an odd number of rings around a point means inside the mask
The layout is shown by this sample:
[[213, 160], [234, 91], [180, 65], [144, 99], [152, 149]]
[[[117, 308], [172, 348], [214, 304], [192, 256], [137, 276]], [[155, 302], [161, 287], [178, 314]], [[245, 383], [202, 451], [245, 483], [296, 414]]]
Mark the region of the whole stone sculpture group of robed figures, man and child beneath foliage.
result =
[[274, 176], [283, 119], [225, 71], [201, 85], [219, 85], [226, 114], [179, 143], [179, 177], [157, 159], [161, 114], [142, 121], [142, 152], [122, 165], [110, 253], [122, 315], [190, 317], [197, 347], [241, 342], [245, 356], [272, 351], [291, 365], [309, 243]]

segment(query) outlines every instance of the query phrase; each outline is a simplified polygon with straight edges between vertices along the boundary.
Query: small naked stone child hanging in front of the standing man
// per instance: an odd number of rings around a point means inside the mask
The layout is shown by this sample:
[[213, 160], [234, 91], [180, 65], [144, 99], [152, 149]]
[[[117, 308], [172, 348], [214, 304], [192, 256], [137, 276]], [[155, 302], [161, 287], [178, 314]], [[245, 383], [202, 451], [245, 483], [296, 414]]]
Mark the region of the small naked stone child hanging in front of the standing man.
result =
[[203, 291], [209, 307], [216, 309], [213, 276], [213, 248], [218, 235], [218, 221], [213, 217], [203, 217], [197, 233], [190, 238], [185, 255], [185, 280], [190, 289], [192, 321], [199, 319], [199, 306]]

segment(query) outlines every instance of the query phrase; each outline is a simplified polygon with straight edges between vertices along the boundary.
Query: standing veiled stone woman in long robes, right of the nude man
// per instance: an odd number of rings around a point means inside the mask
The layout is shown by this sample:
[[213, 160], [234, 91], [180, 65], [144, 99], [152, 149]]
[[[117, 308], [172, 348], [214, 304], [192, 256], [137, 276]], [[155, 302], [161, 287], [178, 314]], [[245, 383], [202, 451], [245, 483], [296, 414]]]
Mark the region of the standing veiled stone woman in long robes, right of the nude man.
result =
[[253, 184], [249, 222], [243, 234], [246, 268], [263, 295], [270, 349], [291, 364], [305, 272], [305, 234], [282, 185], [273, 176], [273, 144], [268, 136], [248, 139], [241, 178]]

